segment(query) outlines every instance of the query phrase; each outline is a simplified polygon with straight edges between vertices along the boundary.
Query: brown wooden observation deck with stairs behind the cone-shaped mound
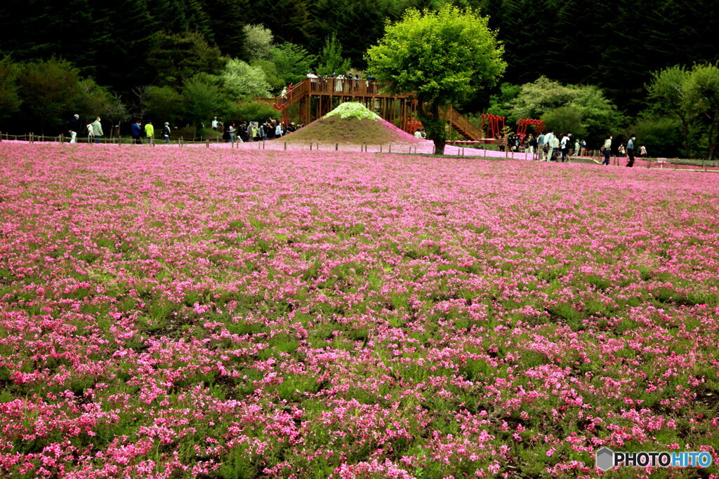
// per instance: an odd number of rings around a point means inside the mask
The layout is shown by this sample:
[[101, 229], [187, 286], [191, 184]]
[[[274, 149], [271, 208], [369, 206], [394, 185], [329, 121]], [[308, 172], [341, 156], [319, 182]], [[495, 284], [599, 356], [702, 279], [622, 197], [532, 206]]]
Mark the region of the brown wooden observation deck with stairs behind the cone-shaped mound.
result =
[[[300, 123], [308, 124], [334, 110], [340, 103], [348, 101], [362, 103], [385, 120], [398, 125], [408, 133], [414, 133], [417, 124], [417, 101], [411, 94], [386, 95], [380, 93], [388, 82], [376, 80], [352, 80], [351, 78], [305, 78], [294, 85], [285, 97], [261, 98], [261, 101], [273, 103], [276, 107], [284, 105], [290, 108], [297, 105]], [[482, 130], [470, 123], [452, 106], [441, 113], [452, 127], [464, 138], [480, 141]]]

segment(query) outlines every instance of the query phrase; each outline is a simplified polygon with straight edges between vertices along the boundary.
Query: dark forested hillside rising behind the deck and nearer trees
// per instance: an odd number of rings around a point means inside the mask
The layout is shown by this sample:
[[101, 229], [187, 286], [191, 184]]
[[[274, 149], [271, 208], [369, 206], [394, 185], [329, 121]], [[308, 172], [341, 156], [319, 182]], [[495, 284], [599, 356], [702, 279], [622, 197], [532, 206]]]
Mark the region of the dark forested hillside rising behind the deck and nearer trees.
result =
[[[186, 96], [202, 90], [203, 85], [240, 96], [244, 91], [248, 97], [265, 90], [279, 93], [283, 85], [301, 78], [301, 68], [324, 66], [327, 70], [349, 65], [362, 72], [365, 52], [382, 36], [385, 22], [400, 19], [408, 8], [436, 9], [444, 3], [68, 0], [58, 4], [6, 0], [0, 6], [0, 52], [8, 55], [6, 66], [51, 58], [67, 60], [78, 79], [93, 80], [107, 98], [126, 106], [128, 114], [152, 112], [148, 104], [153, 102], [154, 112], [161, 113], [158, 102], [178, 105], [180, 99], [188, 111], [192, 106], [186, 104]], [[719, 35], [711, 21], [719, 14], [719, 3], [714, 0], [452, 3], [490, 17], [490, 27], [498, 30], [498, 39], [505, 45], [505, 84], [523, 85], [544, 76], [565, 85], [593, 85], [622, 113], [625, 125], [651, 106], [646, 90], [651, 73], [719, 59]], [[271, 32], [273, 50], [253, 50], [260, 27]], [[230, 59], [236, 62], [228, 63]], [[234, 73], [227, 73], [228, 65], [234, 65]], [[220, 80], [228, 75], [261, 78], [228, 90]], [[10, 83], [0, 78], [0, 88]], [[23, 88], [22, 83], [16, 88], [20, 97], [29, 94]], [[490, 107], [490, 96], [499, 92], [499, 88], [477, 92], [461, 108], [465, 113], [482, 113]], [[13, 108], [0, 112], [1, 128], [37, 124], [37, 114], [32, 116], [22, 103], [20, 98], [18, 121], [10, 120]], [[192, 121], [193, 116], [201, 116], [201, 110], [182, 119]], [[63, 110], [58, 115], [71, 113]], [[165, 113], [180, 116], [176, 111]], [[58, 129], [60, 124], [47, 118], [49, 127]]]

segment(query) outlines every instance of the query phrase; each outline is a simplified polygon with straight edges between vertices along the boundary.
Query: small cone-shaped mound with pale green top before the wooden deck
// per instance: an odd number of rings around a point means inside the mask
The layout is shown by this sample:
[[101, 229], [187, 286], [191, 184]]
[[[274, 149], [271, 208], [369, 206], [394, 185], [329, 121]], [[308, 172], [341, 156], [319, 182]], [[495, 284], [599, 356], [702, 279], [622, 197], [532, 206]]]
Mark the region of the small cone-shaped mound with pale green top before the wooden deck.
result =
[[303, 129], [283, 137], [288, 143], [423, 144], [370, 111], [362, 103], [342, 103]]

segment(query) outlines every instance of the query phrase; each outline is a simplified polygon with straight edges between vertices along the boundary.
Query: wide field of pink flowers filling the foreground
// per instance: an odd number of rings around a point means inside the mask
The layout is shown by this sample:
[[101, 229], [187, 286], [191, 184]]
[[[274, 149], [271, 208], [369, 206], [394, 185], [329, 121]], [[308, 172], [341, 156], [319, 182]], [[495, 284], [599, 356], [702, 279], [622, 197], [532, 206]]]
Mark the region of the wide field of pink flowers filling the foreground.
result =
[[603, 446], [716, 462], [718, 181], [4, 141], [0, 477], [596, 477]]

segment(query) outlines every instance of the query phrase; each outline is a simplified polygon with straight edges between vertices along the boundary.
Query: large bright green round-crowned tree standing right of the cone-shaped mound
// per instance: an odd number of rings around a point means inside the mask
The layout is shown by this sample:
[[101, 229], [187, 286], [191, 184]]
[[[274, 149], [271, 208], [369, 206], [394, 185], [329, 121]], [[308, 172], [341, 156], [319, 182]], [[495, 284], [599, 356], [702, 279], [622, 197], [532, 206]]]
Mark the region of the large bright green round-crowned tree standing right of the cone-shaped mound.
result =
[[487, 18], [472, 9], [445, 5], [439, 11], [406, 11], [387, 24], [385, 36], [367, 50], [370, 73], [390, 80], [390, 93], [412, 93], [418, 119], [444, 153], [445, 123], [441, 109], [464, 101], [477, 88], [497, 83], [507, 64]]

